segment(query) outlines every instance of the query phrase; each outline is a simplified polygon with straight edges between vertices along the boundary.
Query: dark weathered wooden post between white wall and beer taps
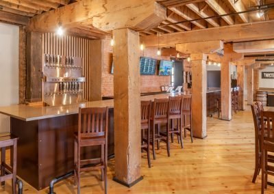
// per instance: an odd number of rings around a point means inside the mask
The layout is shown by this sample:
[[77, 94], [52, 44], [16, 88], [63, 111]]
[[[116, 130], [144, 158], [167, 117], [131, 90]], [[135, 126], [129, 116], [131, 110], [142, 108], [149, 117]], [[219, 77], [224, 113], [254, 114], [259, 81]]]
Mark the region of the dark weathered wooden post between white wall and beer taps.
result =
[[42, 33], [27, 32], [27, 88], [28, 102], [42, 100]]

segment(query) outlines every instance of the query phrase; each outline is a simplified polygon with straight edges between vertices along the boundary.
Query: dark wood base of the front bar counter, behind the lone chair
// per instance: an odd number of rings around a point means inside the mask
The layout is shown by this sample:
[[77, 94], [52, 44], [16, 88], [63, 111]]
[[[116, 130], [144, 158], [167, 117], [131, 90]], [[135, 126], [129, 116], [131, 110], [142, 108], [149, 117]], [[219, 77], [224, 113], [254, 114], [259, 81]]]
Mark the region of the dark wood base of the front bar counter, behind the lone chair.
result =
[[[25, 122], [11, 117], [11, 133], [19, 137], [17, 174], [37, 190], [73, 171], [74, 133], [78, 115]], [[114, 154], [114, 109], [109, 112], [108, 155]], [[99, 148], [83, 148], [82, 158], [97, 157]]]

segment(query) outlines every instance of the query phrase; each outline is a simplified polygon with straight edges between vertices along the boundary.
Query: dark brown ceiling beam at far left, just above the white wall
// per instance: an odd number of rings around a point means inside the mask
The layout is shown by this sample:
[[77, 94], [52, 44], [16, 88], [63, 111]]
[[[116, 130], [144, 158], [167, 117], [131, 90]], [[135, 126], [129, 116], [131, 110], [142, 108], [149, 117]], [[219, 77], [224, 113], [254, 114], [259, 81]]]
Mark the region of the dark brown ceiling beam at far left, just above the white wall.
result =
[[0, 11], [0, 21], [15, 25], [27, 25], [27, 23], [29, 22], [29, 18], [27, 16], [20, 16]]

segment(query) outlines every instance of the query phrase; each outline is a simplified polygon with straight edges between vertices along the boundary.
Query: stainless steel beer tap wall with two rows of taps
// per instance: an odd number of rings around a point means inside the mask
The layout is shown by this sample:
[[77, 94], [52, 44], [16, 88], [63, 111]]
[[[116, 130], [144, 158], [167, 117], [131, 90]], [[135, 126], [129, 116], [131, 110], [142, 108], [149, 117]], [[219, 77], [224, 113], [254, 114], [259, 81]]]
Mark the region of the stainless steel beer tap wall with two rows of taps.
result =
[[49, 106], [84, 102], [82, 58], [44, 55], [43, 102]]

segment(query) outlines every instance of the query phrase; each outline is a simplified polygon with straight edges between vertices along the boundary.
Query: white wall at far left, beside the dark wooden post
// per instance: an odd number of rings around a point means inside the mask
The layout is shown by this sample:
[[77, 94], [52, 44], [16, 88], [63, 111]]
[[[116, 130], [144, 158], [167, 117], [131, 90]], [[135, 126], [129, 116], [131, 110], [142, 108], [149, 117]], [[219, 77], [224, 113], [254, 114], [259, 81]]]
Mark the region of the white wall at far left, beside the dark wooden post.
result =
[[[19, 28], [0, 23], [0, 107], [19, 101]], [[0, 133], [10, 131], [10, 117], [0, 114]]]

